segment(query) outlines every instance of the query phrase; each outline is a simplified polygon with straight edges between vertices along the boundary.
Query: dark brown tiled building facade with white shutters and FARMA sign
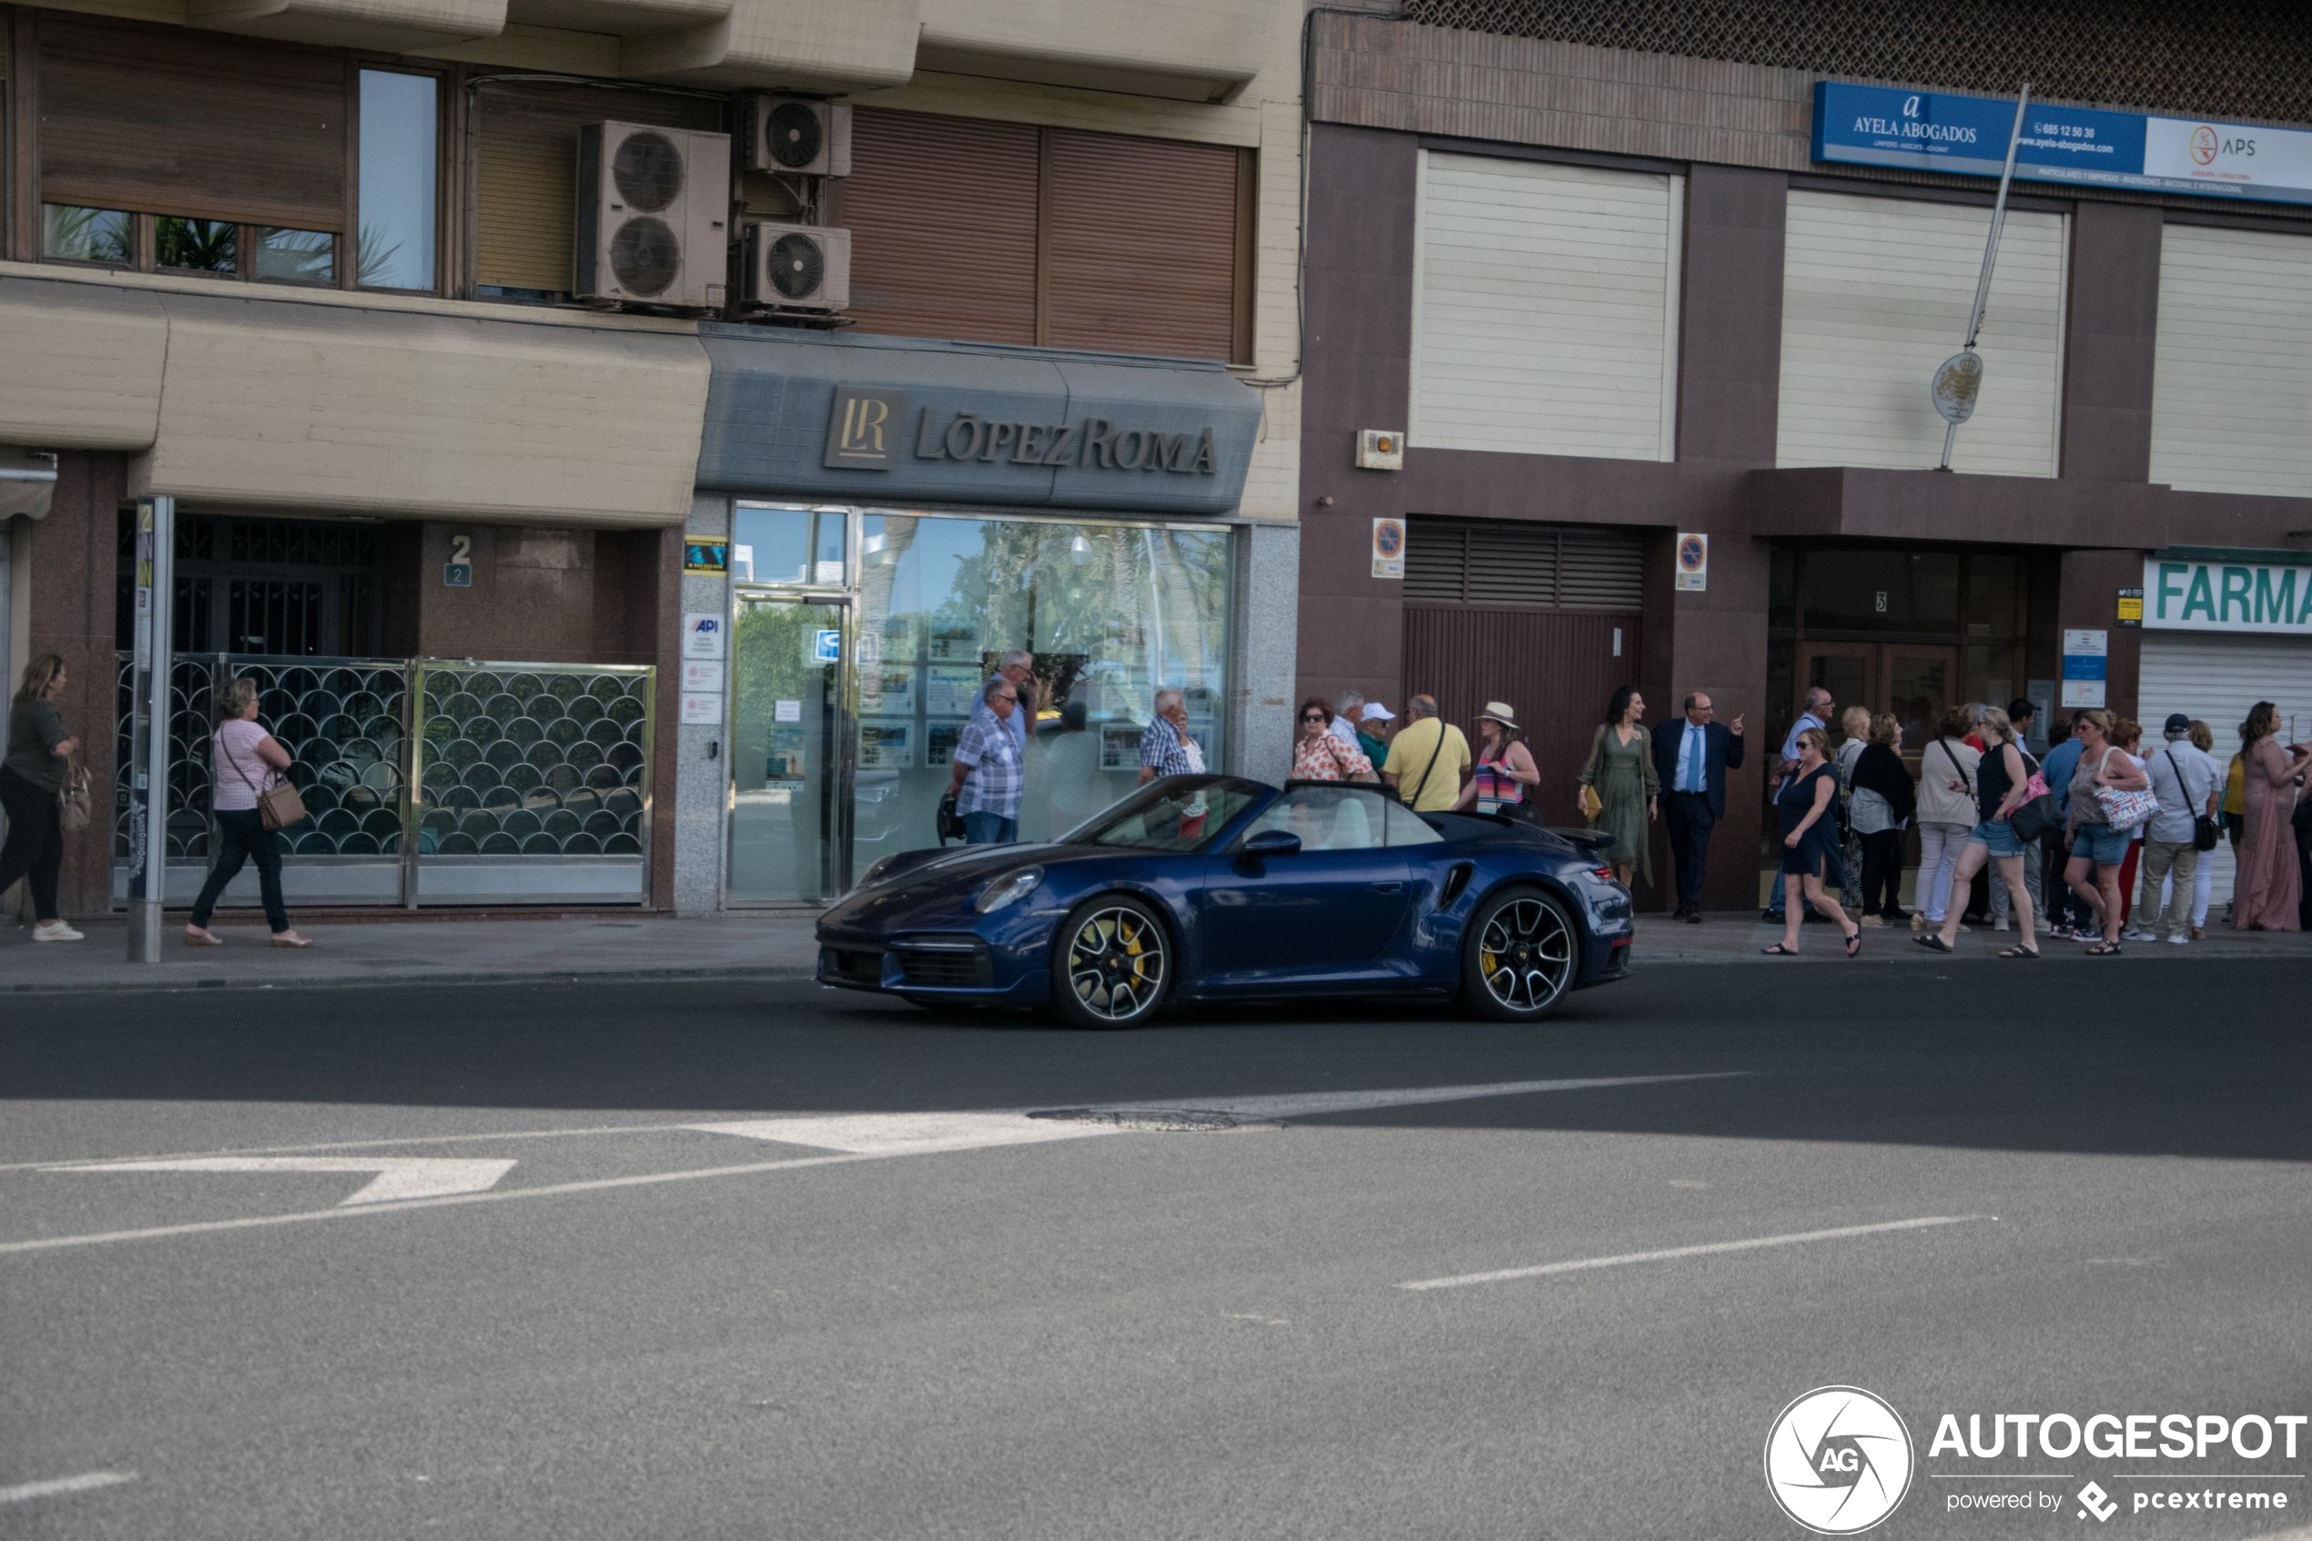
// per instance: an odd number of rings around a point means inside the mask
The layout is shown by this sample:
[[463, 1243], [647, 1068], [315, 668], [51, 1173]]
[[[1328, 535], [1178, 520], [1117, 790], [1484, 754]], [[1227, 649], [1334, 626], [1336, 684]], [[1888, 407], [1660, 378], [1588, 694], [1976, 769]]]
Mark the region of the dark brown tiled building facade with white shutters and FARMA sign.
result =
[[[1766, 760], [1817, 684], [1914, 755], [1940, 707], [2018, 695], [2041, 732], [2180, 709], [2220, 755], [2259, 698], [2312, 725], [2312, 219], [2240, 169], [2259, 134], [2312, 143], [2312, 25], [1364, 9], [1311, 32], [1304, 688], [1510, 700], [1551, 820], [1614, 686], [1648, 721], [1709, 691], [1752, 746], [1725, 908], [1757, 903]], [[2023, 81], [2044, 111], [1942, 471], [1928, 384]], [[1986, 148], [1919, 150], [1961, 118]], [[2102, 176], [2115, 141], [2134, 176]], [[1359, 430], [1401, 432], [1401, 469], [1359, 469]]]

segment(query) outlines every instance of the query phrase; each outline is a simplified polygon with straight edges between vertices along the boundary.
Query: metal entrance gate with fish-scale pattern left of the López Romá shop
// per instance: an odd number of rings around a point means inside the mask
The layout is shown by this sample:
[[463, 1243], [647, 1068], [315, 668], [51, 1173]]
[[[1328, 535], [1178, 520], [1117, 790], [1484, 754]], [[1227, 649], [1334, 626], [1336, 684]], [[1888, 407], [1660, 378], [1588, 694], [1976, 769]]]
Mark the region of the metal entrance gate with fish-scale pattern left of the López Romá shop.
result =
[[[127, 762], [129, 658], [118, 661]], [[291, 906], [645, 903], [657, 670], [442, 658], [178, 656], [169, 707], [166, 896], [210, 853], [217, 691], [254, 679], [307, 818], [282, 832]], [[127, 788], [113, 790], [113, 903]], [[257, 903], [245, 869], [227, 906]]]

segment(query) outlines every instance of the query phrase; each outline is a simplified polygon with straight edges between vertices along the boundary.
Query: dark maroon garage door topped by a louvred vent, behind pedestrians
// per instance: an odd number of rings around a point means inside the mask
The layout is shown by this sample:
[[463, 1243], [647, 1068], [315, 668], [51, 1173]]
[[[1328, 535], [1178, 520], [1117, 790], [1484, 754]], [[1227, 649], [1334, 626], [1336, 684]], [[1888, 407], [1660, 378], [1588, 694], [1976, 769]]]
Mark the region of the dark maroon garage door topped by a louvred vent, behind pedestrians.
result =
[[[1436, 695], [1473, 751], [1484, 702], [1514, 707], [1547, 822], [1581, 822], [1574, 776], [1614, 686], [1637, 684], [1642, 619], [1644, 545], [1632, 531], [1410, 520], [1406, 693]], [[1651, 721], [1669, 709], [1648, 707]]]

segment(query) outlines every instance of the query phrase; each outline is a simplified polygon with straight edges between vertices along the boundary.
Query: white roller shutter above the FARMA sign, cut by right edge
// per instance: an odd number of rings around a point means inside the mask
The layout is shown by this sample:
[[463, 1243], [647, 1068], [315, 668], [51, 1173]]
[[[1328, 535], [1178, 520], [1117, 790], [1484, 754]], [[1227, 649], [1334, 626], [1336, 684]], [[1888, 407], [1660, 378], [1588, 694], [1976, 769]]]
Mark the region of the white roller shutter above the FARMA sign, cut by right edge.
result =
[[2171, 224], [2159, 238], [2152, 481], [2303, 497], [2312, 481], [2312, 240]]

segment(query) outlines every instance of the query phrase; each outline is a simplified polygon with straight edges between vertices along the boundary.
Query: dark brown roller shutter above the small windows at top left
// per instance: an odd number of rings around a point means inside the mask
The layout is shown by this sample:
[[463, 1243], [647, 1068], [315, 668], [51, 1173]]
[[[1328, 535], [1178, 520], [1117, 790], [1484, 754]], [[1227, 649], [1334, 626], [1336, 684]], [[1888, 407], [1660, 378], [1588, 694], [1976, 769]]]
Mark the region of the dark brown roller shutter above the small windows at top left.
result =
[[344, 229], [342, 55], [55, 12], [35, 25], [42, 201]]

